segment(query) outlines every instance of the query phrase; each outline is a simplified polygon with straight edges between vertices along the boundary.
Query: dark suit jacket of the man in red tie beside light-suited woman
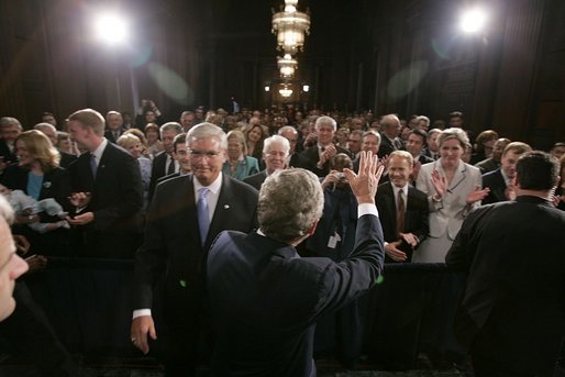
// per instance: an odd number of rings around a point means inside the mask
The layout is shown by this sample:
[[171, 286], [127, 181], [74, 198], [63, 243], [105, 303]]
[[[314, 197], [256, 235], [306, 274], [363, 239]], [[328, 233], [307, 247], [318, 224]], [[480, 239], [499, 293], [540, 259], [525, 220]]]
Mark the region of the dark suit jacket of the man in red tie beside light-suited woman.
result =
[[[383, 225], [383, 233], [386, 242], [398, 241], [397, 236], [397, 219], [396, 219], [396, 200], [395, 191], [392, 190], [392, 184], [386, 182], [379, 185], [377, 193], [377, 209], [379, 213], [380, 225]], [[408, 186], [408, 198], [406, 202], [406, 215], [405, 215], [405, 233], [412, 233], [419, 240], [420, 243], [425, 240], [429, 226], [429, 204], [428, 197], [422, 191], [418, 190], [412, 186]], [[401, 248], [402, 252], [407, 253], [408, 260], [412, 254], [412, 250], [409, 245]], [[386, 262], [394, 262], [388, 258]]]

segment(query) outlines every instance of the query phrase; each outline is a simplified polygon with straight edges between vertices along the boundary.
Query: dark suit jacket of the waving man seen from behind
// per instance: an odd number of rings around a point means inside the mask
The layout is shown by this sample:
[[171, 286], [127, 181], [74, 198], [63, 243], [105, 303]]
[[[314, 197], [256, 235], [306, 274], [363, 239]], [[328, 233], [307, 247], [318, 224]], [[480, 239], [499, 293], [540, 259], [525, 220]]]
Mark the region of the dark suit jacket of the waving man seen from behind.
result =
[[378, 219], [357, 222], [346, 260], [300, 258], [296, 248], [257, 233], [222, 232], [208, 258], [217, 334], [215, 376], [313, 376], [317, 319], [361, 296], [383, 268]]

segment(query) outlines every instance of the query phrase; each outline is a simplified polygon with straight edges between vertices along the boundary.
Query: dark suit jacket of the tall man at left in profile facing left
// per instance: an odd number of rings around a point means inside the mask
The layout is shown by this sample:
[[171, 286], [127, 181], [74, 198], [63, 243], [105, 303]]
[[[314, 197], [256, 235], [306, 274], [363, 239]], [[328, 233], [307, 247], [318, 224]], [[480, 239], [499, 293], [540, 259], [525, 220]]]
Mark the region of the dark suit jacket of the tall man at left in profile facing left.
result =
[[[132, 257], [140, 239], [143, 182], [140, 165], [120, 146], [108, 143], [96, 179], [90, 169], [90, 154], [84, 153], [69, 166], [75, 192], [90, 192], [84, 212], [93, 212], [95, 221], [81, 226], [85, 246], [93, 256]], [[109, 253], [109, 254], [107, 254]]]

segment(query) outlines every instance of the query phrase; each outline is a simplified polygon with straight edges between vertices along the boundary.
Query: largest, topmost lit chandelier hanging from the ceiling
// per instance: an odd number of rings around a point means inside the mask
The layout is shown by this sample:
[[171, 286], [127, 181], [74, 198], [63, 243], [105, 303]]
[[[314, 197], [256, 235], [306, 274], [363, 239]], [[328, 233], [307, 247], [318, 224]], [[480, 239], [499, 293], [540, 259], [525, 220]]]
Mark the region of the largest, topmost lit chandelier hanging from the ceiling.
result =
[[310, 33], [310, 15], [298, 12], [298, 0], [285, 0], [285, 10], [273, 14], [273, 34], [277, 34], [278, 49], [285, 54], [301, 51], [304, 45], [304, 33]]

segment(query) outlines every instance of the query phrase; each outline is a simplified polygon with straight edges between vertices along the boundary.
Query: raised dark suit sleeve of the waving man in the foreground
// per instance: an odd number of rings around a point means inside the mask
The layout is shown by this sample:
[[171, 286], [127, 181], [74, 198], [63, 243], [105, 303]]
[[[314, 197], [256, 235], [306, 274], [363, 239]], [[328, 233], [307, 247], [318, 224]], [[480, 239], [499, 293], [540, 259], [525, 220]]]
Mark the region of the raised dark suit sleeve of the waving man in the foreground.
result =
[[317, 312], [333, 311], [369, 290], [384, 266], [383, 229], [377, 217], [365, 214], [358, 219], [355, 247], [351, 256], [331, 263], [320, 278]]

